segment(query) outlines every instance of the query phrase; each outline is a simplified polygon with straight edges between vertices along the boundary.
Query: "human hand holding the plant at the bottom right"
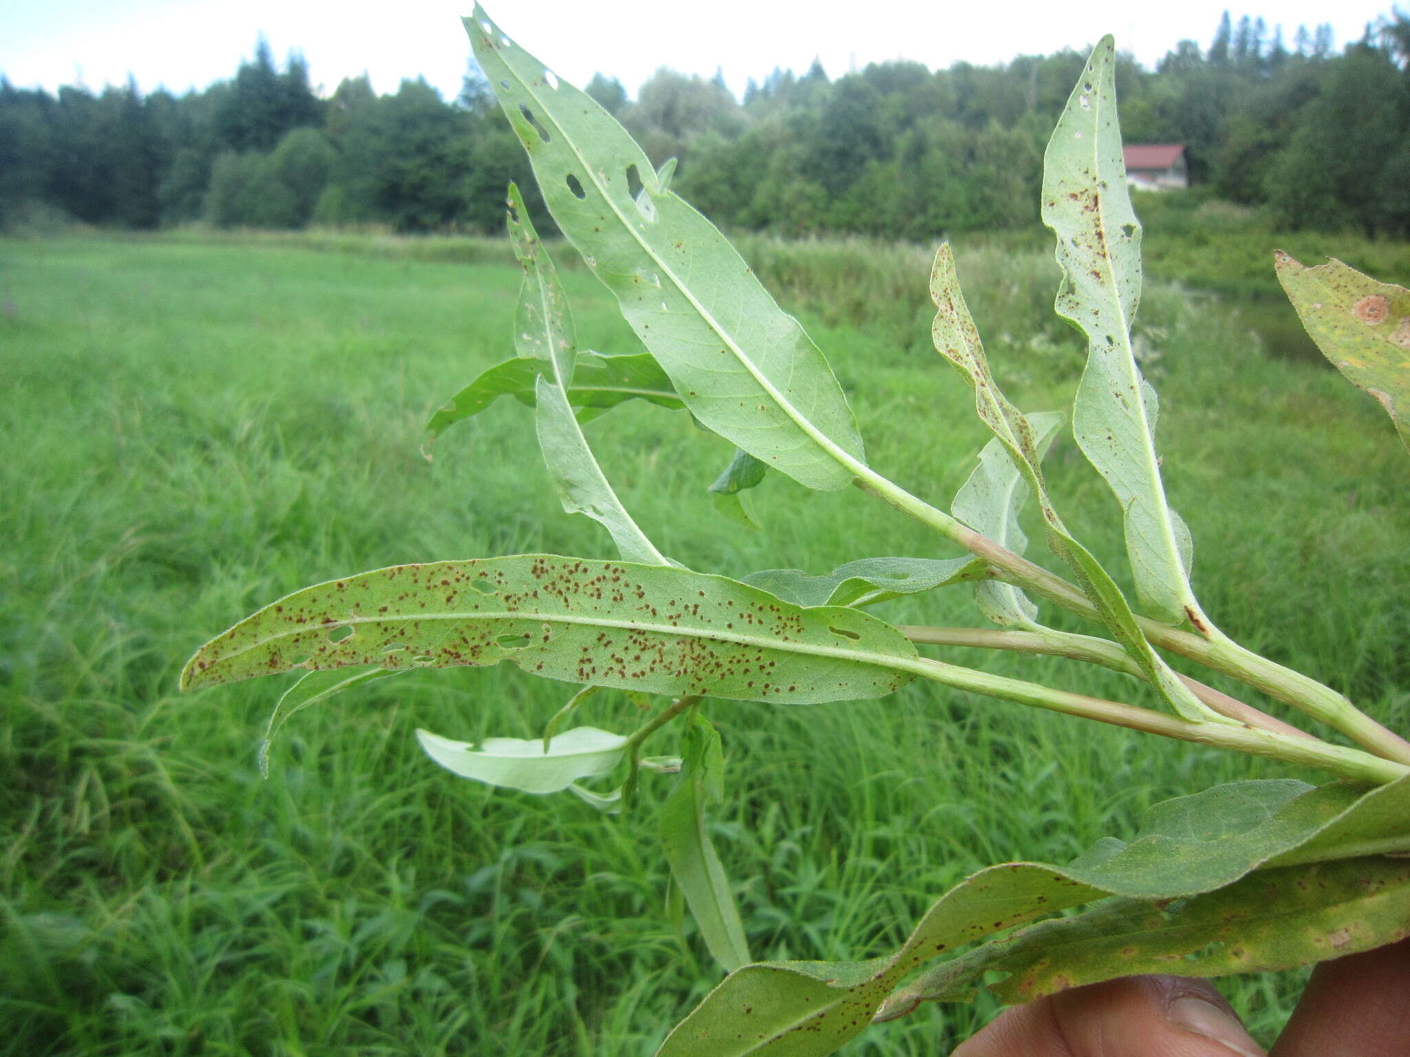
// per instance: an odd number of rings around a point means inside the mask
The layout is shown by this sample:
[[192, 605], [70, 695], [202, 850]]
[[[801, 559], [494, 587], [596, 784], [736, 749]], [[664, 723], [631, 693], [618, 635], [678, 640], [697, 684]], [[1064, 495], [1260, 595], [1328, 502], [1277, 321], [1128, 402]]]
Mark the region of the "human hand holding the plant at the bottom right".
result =
[[[1004, 1010], [952, 1057], [1262, 1057], [1207, 981], [1124, 977]], [[1407, 1057], [1410, 940], [1324, 961], [1270, 1057]]]

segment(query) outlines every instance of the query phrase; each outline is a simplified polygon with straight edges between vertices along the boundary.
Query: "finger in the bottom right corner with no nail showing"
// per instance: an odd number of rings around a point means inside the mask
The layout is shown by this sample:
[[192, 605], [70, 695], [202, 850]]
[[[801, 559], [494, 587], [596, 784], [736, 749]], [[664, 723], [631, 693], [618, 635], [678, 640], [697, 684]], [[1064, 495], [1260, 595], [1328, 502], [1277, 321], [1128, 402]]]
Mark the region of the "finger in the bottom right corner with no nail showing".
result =
[[1273, 1057], [1404, 1057], [1410, 1051], [1410, 940], [1313, 970]]

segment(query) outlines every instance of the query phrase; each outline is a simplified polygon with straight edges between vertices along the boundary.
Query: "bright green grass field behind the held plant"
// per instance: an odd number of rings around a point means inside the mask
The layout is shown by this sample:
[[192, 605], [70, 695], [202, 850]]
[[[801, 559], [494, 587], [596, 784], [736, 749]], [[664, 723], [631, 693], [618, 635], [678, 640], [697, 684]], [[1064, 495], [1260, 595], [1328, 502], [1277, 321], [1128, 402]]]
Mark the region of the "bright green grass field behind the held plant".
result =
[[[924, 254], [750, 252], [773, 254], [760, 272], [830, 357], [873, 465], [948, 506], [984, 433], [925, 351]], [[282, 684], [175, 692], [196, 645], [306, 583], [609, 555], [605, 533], [561, 513], [523, 407], [457, 427], [434, 462], [417, 454], [427, 414], [509, 354], [508, 248], [447, 256], [368, 240], [0, 242], [0, 1051], [649, 1054], [718, 979], [663, 912], [653, 808], [671, 779], [603, 819], [455, 779], [412, 737], [529, 737], [568, 688], [501, 669], [378, 684], [299, 715], [271, 781], [255, 750]], [[1080, 350], [1046, 316], [1048, 254], [976, 244], [960, 268], [1011, 395], [1062, 406]], [[845, 310], [828, 279], [852, 293]], [[582, 344], [630, 350], [595, 280], [564, 280]], [[1410, 462], [1385, 414], [1325, 368], [1265, 355], [1210, 295], [1155, 286], [1139, 340], [1208, 612], [1404, 729]], [[729, 447], [681, 414], [618, 410], [589, 438], [692, 568], [950, 554], [862, 493], [777, 475], [766, 531], [715, 520], [704, 485]], [[1115, 554], [1104, 486], [1070, 443], [1050, 465], [1069, 520]], [[964, 591], [881, 614], [979, 623]], [[1067, 662], [945, 655], [1146, 700]], [[623, 729], [633, 712], [599, 695], [591, 722]], [[756, 957], [883, 953], [981, 865], [1063, 861], [1129, 836], [1159, 799], [1296, 774], [931, 686], [709, 716], [729, 761], [713, 832]], [[653, 747], [671, 751], [670, 734]], [[1266, 1041], [1300, 979], [1225, 989]], [[993, 1010], [925, 1009], [846, 1053], [943, 1053]]]

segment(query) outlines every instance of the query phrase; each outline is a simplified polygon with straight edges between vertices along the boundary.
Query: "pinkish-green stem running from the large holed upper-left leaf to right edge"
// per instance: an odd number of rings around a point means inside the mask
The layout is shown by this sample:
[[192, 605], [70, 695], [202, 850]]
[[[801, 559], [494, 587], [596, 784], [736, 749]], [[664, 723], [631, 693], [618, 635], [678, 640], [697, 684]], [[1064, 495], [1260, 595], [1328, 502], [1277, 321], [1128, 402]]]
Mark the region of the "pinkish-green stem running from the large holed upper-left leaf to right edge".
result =
[[[970, 554], [984, 558], [997, 569], [1001, 579], [1042, 595], [1049, 602], [1062, 606], [1070, 613], [1097, 623], [1101, 622], [1097, 607], [1091, 605], [1091, 600], [1062, 576], [976, 533], [943, 510], [938, 510], [895, 482], [881, 476], [870, 466], [850, 457], [847, 457], [846, 465], [856, 474], [856, 483], [863, 492], [877, 496], [897, 510], [915, 517], [946, 538], [953, 540]], [[1136, 623], [1153, 645], [1163, 647], [1180, 657], [1224, 672], [1239, 682], [1268, 693], [1276, 700], [1292, 705], [1313, 719], [1335, 727], [1376, 755], [1400, 764], [1410, 764], [1410, 741], [1376, 723], [1344, 695], [1330, 686], [1324, 686], [1301, 672], [1269, 661], [1266, 657], [1259, 657], [1215, 629], [1210, 629], [1210, 637], [1203, 637], [1167, 627], [1148, 617], [1138, 616]]]

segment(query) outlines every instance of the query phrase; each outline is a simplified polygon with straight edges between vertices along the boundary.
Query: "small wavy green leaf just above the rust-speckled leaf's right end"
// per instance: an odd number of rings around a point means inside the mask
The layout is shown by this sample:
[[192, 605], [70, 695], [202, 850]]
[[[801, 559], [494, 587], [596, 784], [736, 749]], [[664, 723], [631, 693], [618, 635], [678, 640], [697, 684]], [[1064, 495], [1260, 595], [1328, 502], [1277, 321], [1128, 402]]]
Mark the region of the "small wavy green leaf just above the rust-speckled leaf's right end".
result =
[[761, 569], [744, 583], [799, 606], [870, 606], [952, 583], [983, 579], [979, 558], [859, 558], [826, 576], [802, 569]]

